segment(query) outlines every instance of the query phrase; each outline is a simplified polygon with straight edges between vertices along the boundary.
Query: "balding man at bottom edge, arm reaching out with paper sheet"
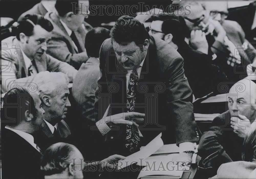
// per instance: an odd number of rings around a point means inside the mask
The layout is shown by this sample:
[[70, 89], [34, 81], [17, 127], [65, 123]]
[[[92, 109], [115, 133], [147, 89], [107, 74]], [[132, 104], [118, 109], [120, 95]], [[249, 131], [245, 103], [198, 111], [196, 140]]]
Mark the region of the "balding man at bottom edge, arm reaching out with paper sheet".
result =
[[[100, 162], [85, 163], [81, 152], [71, 144], [56, 143], [47, 148], [41, 158], [41, 172], [45, 179], [79, 179], [83, 171], [93, 171], [97, 176], [98, 170], [112, 170], [114, 162], [125, 159], [124, 156], [113, 155]], [[98, 176], [99, 177], [99, 176]]]

